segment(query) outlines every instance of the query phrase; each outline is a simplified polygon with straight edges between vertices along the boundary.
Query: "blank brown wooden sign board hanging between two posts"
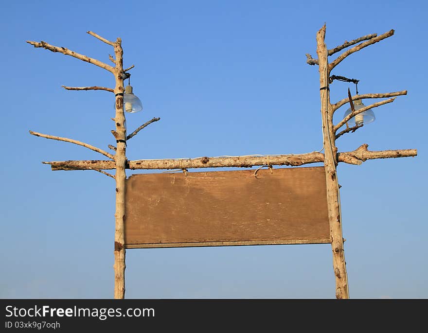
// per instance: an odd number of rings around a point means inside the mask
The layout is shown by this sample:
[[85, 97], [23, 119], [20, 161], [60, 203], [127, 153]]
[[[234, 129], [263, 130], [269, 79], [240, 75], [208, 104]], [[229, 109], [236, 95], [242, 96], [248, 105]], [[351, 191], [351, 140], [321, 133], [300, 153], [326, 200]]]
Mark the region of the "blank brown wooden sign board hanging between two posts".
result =
[[126, 182], [126, 248], [330, 243], [324, 167]]

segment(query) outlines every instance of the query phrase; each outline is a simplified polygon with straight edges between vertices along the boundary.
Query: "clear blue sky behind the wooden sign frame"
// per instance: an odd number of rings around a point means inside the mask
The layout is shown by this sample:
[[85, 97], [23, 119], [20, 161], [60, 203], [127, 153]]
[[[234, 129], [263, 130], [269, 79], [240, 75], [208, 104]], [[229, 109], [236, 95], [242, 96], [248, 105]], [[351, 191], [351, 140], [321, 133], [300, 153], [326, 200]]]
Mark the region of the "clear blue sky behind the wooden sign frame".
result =
[[[86, 31], [120, 36], [144, 111], [128, 159], [289, 154], [322, 148], [316, 32], [329, 48], [362, 35], [395, 35], [333, 72], [360, 93], [408, 90], [376, 121], [342, 136], [339, 151], [416, 148], [416, 158], [338, 167], [351, 298], [427, 298], [428, 116], [425, 1], [9, 1], [3, 17], [1, 298], [111, 298], [114, 182], [91, 171], [52, 172], [46, 160], [98, 159], [114, 116], [110, 73], [34, 49], [44, 40], [108, 63], [112, 49]], [[359, 10], [357, 10], [359, 9]], [[331, 99], [353, 85], [335, 81]], [[6, 106], [7, 105], [7, 106]], [[367, 105], [367, 103], [366, 103]], [[346, 107], [337, 112], [340, 120]], [[130, 171], [127, 175], [131, 175]], [[334, 298], [330, 245], [132, 249], [127, 298]]]

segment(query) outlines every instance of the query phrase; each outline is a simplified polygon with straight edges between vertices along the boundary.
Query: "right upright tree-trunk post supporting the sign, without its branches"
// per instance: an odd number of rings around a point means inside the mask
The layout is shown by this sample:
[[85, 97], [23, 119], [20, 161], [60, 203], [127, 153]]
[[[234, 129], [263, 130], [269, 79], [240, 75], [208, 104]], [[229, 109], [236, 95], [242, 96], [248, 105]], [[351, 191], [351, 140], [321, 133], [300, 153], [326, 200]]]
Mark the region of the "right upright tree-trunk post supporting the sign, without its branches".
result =
[[330, 104], [328, 51], [324, 42], [325, 25], [317, 33], [317, 54], [320, 70], [320, 95], [322, 135], [324, 140], [324, 167], [327, 187], [327, 207], [330, 224], [331, 247], [333, 250], [333, 268], [336, 279], [336, 298], [349, 298], [348, 276], [346, 274], [345, 254], [341, 216], [339, 210], [339, 184], [336, 172], [337, 148], [333, 125], [333, 109]]

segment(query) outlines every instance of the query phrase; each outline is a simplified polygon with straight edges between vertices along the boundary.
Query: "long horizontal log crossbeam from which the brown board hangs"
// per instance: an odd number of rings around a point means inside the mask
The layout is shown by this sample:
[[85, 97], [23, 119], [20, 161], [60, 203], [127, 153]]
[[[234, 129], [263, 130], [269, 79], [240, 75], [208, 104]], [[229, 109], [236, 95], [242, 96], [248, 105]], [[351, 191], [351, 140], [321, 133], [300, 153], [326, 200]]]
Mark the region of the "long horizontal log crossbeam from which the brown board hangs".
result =
[[[376, 158], [401, 158], [417, 156], [416, 149], [369, 151], [368, 145], [363, 144], [352, 152], [338, 154], [338, 161], [348, 164], [359, 165], [362, 161]], [[269, 165], [300, 166], [310, 163], [322, 163], [324, 154], [313, 152], [298, 155], [275, 155], [269, 156]], [[52, 170], [87, 170], [92, 169], [115, 169], [114, 161], [110, 160], [69, 160], [43, 162], [50, 164]], [[161, 170], [161, 169], [191, 169], [191, 168], [222, 168], [267, 165], [267, 156], [236, 156], [236, 157], [203, 157], [183, 159], [141, 159], [127, 161], [126, 168], [132, 170]]]

